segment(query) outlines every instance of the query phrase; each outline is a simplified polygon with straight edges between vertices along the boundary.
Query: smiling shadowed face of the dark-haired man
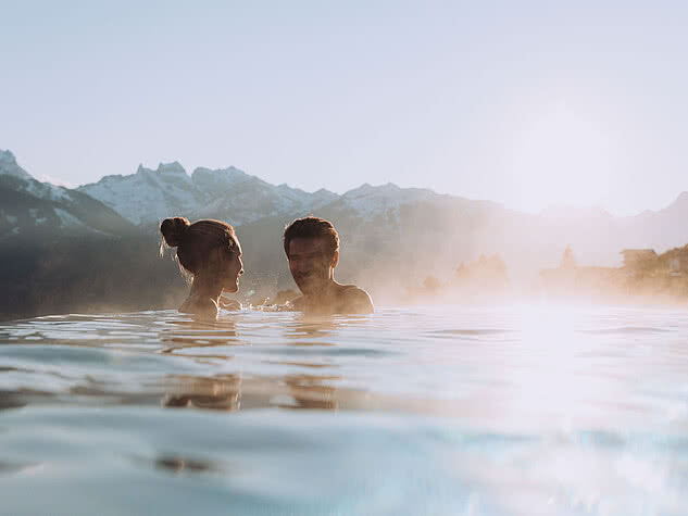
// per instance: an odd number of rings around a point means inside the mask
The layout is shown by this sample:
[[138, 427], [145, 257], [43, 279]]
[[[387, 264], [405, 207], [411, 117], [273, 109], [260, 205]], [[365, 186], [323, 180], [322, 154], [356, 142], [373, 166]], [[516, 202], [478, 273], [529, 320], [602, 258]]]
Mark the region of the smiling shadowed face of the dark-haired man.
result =
[[324, 238], [295, 238], [289, 242], [289, 270], [301, 292], [321, 289], [335, 265]]

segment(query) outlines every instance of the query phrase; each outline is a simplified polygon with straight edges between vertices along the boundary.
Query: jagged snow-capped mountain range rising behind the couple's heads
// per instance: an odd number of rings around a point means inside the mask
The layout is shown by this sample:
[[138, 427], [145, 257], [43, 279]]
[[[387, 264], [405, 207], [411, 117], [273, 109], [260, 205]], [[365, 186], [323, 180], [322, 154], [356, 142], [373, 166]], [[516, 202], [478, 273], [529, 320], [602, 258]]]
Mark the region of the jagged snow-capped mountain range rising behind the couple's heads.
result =
[[[438, 194], [421, 188], [365, 184], [343, 194], [321, 189], [307, 192], [286, 184], [275, 186], [234, 166], [198, 167], [189, 176], [177, 162], [161, 163], [152, 171], [139, 165], [136, 174], [105, 176], [84, 185], [88, 193], [136, 225], [149, 225], [168, 216], [221, 218], [235, 226], [266, 217], [309, 213], [346, 213], [358, 218], [396, 213], [400, 206], [431, 203], [462, 206], [468, 211], [501, 210], [493, 202]], [[391, 211], [391, 212], [390, 212]]]

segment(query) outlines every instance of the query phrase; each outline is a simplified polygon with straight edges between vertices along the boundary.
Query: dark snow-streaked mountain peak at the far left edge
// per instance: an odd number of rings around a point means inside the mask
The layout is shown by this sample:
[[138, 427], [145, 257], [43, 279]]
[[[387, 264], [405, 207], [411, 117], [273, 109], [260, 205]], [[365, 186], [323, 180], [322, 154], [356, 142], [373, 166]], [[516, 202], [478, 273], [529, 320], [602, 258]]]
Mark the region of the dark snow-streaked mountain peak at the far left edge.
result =
[[0, 238], [45, 232], [122, 235], [132, 224], [91, 197], [36, 180], [10, 151], [0, 151]]

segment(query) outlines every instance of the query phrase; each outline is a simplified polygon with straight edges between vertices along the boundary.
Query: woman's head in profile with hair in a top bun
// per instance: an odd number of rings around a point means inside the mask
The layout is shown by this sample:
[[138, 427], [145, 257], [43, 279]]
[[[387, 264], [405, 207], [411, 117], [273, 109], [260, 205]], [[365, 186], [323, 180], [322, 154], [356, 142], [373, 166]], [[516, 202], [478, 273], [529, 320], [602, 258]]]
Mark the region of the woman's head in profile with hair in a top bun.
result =
[[213, 219], [190, 224], [184, 217], [173, 217], [162, 222], [160, 232], [167, 246], [177, 248], [177, 260], [185, 270], [221, 281], [230, 292], [238, 290], [243, 273], [241, 246], [229, 224]]

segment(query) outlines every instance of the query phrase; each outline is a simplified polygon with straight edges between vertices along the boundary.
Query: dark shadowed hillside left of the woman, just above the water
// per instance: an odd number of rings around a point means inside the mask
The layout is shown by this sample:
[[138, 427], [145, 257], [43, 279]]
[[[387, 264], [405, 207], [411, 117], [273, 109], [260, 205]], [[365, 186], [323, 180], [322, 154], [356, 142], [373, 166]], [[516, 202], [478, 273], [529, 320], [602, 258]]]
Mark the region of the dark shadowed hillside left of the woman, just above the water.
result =
[[188, 287], [155, 237], [0, 242], [0, 319], [178, 306]]

